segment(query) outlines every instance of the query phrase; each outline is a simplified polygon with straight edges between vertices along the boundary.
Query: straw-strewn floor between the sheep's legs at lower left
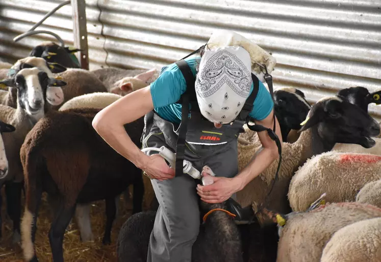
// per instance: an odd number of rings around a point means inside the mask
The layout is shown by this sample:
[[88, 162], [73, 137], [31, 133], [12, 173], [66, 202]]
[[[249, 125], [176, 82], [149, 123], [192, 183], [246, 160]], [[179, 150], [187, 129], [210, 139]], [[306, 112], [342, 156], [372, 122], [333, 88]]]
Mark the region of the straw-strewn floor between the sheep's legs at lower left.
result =
[[[4, 189], [1, 191], [4, 196]], [[2, 262], [22, 262], [22, 251], [20, 244], [12, 245], [12, 222], [6, 215], [6, 205], [3, 197], [3, 238], [0, 240], [0, 261]], [[127, 202], [127, 203], [126, 203]], [[116, 240], [119, 229], [123, 223], [131, 216], [131, 199], [124, 201], [121, 197], [119, 202], [119, 215], [114, 221], [111, 245], [102, 245], [104, 226], [106, 223], [105, 202], [97, 201], [91, 208], [91, 226], [95, 241], [93, 243], [82, 243], [80, 233], [75, 223], [71, 223], [64, 236], [64, 260], [66, 262], [115, 262], [116, 261]], [[23, 205], [23, 203], [22, 203]], [[23, 212], [23, 207], [22, 207]], [[37, 232], [35, 247], [40, 262], [52, 261], [52, 253], [48, 241], [48, 231], [50, 228], [50, 210], [44, 194], [39, 209], [37, 220]]]

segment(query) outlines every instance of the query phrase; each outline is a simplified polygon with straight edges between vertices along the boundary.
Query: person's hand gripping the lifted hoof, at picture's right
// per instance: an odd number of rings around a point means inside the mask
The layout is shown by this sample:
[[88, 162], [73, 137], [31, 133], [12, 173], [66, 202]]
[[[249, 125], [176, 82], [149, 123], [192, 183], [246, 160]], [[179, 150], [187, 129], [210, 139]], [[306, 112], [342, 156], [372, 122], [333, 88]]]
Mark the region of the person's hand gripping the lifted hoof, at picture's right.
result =
[[[203, 174], [203, 176], [210, 176]], [[235, 178], [212, 177], [214, 183], [211, 185], [197, 185], [197, 194], [202, 201], [207, 203], [222, 203], [236, 193], [241, 183]]]

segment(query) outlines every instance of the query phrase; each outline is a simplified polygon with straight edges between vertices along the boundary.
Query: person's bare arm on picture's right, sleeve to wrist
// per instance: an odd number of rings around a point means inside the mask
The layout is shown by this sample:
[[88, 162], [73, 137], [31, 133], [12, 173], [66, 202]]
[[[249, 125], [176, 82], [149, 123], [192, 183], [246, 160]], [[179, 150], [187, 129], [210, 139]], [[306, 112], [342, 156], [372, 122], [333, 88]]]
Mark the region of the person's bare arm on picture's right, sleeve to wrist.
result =
[[[262, 125], [267, 128], [273, 128], [274, 125], [274, 110], [261, 121], [255, 121], [256, 125]], [[275, 117], [275, 133], [281, 141], [282, 145], [282, 134], [279, 123]], [[259, 176], [277, 157], [278, 148], [267, 131], [258, 132], [258, 137], [262, 143], [262, 150], [256, 154], [253, 160], [235, 177], [237, 179], [239, 190], [242, 190], [245, 185], [247, 185], [251, 180]]]

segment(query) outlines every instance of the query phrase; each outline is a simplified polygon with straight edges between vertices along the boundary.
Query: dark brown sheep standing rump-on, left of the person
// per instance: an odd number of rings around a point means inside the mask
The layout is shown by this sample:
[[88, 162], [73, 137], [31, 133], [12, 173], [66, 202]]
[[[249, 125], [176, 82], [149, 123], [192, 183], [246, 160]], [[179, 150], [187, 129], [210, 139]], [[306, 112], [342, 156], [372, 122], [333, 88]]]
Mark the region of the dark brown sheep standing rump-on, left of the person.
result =
[[[33, 242], [43, 190], [59, 200], [49, 230], [53, 260], [57, 262], [63, 261], [63, 235], [76, 203], [106, 199], [103, 243], [109, 244], [115, 218], [115, 197], [129, 184], [137, 185], [137, 181], [141, 181], [143, 186], [141, 170], [112, 149], [92, 127], [92, 120], [99, 111], [94, 108], [51, 111], [33, 127], [21, 146], [26, 186], [21, 246], [27, 261], [37, 261]], [[141, 147], [143, 118], [124, 125], [138, 148]], [[143, 188], [134, 189], [144, 192]], [[134, 213], [141, 211], [142, 198], [143, 195], [134, 198]]]

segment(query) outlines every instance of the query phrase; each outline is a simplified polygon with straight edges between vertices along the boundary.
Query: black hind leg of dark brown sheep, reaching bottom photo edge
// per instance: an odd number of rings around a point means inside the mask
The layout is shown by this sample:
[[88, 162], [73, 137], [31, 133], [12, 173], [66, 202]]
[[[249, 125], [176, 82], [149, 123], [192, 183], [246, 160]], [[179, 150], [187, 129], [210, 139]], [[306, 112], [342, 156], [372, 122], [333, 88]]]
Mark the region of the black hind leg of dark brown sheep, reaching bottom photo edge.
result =
[[49, 243], [52, 248], [53, 261], [63, 262], [63, 238], [65, 230], [70, 223], [72, 216], [74, 215], [75, 204], [68, 206], [67, 203], [60, 204], [60, 208], [57, 212], [57, 216], [50, 226], [49, 230]]

